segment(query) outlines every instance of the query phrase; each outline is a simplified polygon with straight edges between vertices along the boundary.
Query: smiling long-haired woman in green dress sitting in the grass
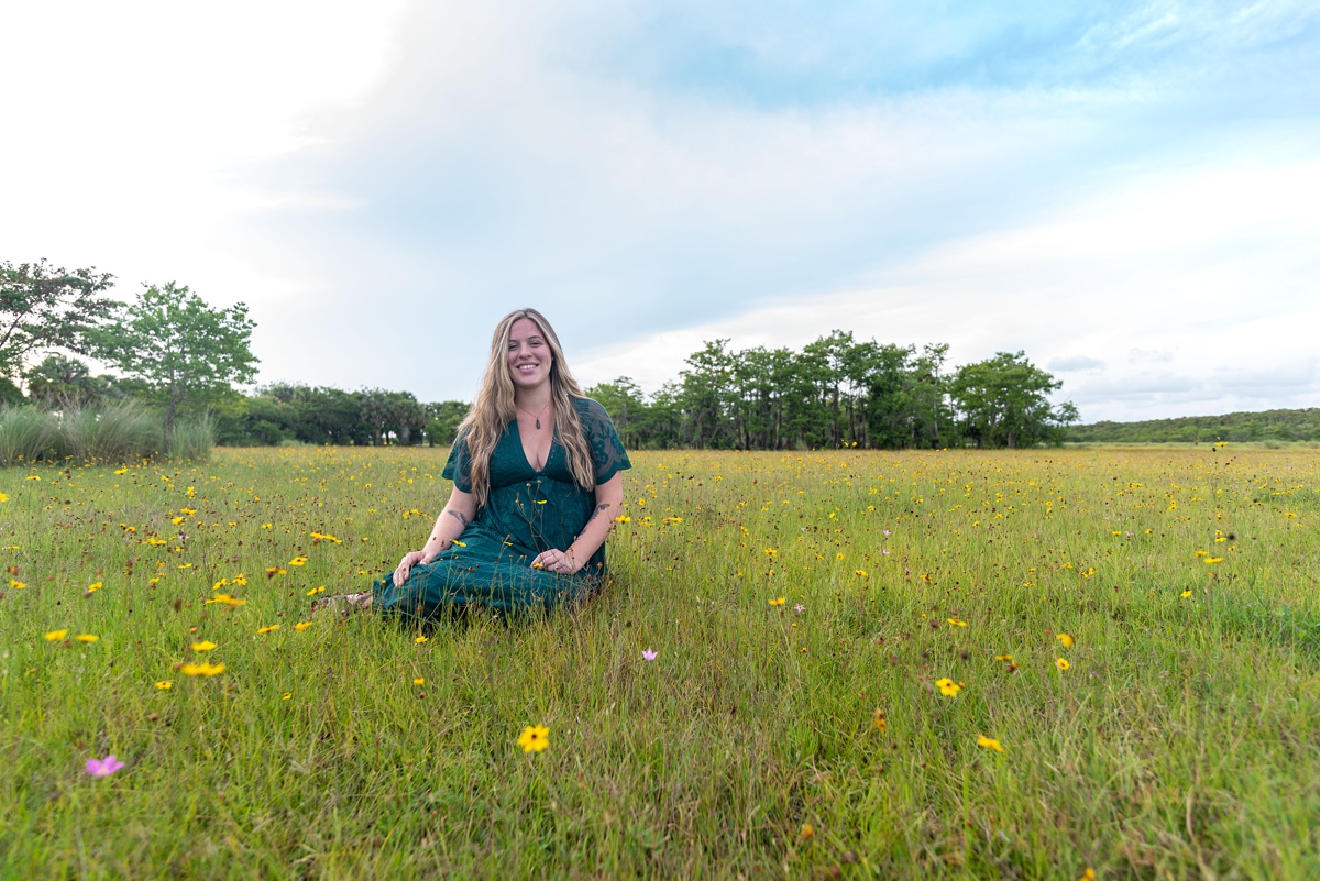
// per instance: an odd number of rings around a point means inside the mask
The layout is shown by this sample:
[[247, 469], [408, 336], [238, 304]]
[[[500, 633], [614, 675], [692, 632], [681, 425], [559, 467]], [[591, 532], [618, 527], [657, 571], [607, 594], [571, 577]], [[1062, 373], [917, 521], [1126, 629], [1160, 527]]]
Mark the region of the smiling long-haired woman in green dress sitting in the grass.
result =
[[454, 489], [430, 538], [370, 592], [325, 604], [428, 617], [469, 603], [508, 611], [581, 601], [605, 578], [605, 538], [623, 504], [619, 472], [631, 467], [545, 317], [510, 313], [449, 451], [442, 476]]

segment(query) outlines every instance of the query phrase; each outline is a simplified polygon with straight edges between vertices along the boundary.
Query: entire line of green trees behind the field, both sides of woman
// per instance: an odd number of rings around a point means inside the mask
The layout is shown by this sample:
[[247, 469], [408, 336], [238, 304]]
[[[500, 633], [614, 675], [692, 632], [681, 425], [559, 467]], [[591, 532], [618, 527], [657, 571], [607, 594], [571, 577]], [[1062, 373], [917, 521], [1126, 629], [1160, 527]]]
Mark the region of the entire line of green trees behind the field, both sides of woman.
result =
[[[0, 401], [48, 409], [143, 401], [205, 413], [222, 444], [447, 446], [467, 405], [409, 392], [277, 382], [243, 394], [257, 359], [247, 307], [214, 309], [176, 282], [135, 301], [112, 276], [0, 264]], [[42, 360], [37, 356], [45, 355]], [[78, 356], [117, 373], [92, 376]], [[836, 330], [800, 351], [705, 343], [678, 377], [645, 394], [628, 377], [587, 389], [631, 448], [711, 450], [1028, 447], [1064, 440], [1077, 421], [1061, 388], [1023, 352], [950, 368], [948, 346], [859, 340]], [[20, 388], [18, 382], [24, 388]]]

